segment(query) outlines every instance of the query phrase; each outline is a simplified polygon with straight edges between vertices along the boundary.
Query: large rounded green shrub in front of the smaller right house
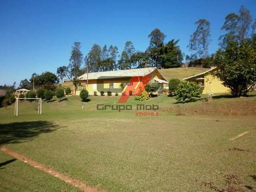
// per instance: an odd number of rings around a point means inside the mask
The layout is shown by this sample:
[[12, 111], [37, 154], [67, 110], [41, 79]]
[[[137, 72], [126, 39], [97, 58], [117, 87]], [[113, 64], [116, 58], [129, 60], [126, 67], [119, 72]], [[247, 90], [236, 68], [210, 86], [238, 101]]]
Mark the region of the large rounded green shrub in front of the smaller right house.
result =
[[195, 101], [200, 98], [203, 90], [194, 82], [180, 83], [175, 91], [176, 100], [185, 102], [186, 100]]

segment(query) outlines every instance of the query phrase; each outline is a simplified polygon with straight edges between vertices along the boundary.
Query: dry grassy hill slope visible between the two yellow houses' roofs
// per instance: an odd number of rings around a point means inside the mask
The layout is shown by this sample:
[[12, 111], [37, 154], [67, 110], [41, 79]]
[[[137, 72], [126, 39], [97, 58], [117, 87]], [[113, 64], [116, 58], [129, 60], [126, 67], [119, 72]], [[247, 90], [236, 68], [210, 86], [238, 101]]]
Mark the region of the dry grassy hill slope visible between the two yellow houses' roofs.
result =
[[162, 75], [169, 81], [172, 78], [178, 78], [180, 80], [196, 75], [198, 73], [202, 73], [209, 70], [208, 68], [202, 67], [189, 67], [188, 69], [180, 67], [180, 68], [169, 68], [169, 69], [160, 69]]

